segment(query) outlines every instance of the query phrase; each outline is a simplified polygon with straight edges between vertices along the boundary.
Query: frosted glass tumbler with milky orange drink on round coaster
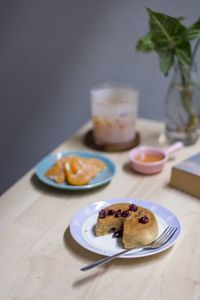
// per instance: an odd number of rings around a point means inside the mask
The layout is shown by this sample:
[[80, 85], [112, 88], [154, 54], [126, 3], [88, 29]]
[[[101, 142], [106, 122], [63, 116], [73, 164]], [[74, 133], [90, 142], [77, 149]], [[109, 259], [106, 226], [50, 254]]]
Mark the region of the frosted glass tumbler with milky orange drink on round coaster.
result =
[[97, 145], [128, 145], [136, 135], [138, 92], [103, 84], [91, 90], [93, 135]]

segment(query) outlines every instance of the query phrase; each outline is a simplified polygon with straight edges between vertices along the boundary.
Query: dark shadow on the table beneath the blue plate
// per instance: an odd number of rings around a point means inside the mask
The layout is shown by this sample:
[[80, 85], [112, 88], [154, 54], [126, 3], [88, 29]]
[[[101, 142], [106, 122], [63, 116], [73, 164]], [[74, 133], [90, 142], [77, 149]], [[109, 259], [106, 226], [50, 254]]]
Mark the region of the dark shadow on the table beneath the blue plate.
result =
[[31, 176], [31, 184], [39, 191], [46, 193], [46, 194], [52, 194], [52, 195], [60, 195], [60, 196], [70, 196], [70, 197], [83, 197], [86, 195], [90, 195], [91, 193], [95, 192], [101, 192], [102, 189], [106, 188], [107, 185], [109, 185], [110, 182], [99, 186], [95, 188], [91, 188], [88, 190], [64, 190], [64, 189], [58, 189], [51, 186], [48, 186], [44, 183], [42, 183], [35, 174]]

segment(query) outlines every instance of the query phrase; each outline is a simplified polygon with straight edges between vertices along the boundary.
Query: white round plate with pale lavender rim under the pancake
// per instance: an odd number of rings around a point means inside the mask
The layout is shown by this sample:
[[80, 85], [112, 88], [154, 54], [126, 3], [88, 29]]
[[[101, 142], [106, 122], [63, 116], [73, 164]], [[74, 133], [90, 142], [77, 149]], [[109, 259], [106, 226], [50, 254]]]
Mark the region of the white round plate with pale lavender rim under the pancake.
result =
[[121, 244], [121, 239], [113, 238], [112, 234], [96, 237], [94, 232], [99, 210], [108, 205], [121, 202], [135, 203], [138, 206], [143, 206], [151, 210], [155, 214], [158, 222], [159, 235], [167, 226], [176, 227], [177, 231], [165, 245], [158, 249], [134, 249], [120, 257], [132, 258], [153, 255], [168, 249], [177, 241], [181, 232], [181, 224], [178, 218], [169, 209], [153, 202], [131, 198], [110, 199], [95, 202], [78, 211], [70, 222], [70, 232], [75, 241], [92, 252], [106, 256], [122, 251], [124, 248]]

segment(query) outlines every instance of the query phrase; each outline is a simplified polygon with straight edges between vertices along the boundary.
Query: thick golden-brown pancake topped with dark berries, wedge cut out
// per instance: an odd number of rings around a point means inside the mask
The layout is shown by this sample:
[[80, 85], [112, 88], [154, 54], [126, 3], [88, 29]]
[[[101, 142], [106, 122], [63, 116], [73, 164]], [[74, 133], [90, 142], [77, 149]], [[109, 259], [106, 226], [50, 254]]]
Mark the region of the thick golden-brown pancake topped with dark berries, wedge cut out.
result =
[[99, 212], [95, 234], [98, 237], [119, 231], [122, 233], [124, 248], [142, 247], [156, 239], [158, 223], [155, 215], [147, 208], [131, 203], [117, 203]]

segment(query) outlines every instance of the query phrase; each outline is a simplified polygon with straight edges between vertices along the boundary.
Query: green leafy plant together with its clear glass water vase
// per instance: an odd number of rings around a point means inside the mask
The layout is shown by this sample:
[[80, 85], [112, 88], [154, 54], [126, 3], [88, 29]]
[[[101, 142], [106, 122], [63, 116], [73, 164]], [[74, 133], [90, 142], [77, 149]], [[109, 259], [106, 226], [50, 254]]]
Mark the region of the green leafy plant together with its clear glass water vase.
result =
[[193, 77], [194, 59], [200, 44], [200, 18], [189, 27], [184, 18], [174, 18], [147, 8], [149, 32], [140, 38], [136, 49], [155, 51], [165, 76], [175, 74], [165, 101], [165, 133], [169, 142], [195, 143], [200, 125], [200, 89]]

